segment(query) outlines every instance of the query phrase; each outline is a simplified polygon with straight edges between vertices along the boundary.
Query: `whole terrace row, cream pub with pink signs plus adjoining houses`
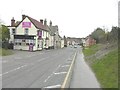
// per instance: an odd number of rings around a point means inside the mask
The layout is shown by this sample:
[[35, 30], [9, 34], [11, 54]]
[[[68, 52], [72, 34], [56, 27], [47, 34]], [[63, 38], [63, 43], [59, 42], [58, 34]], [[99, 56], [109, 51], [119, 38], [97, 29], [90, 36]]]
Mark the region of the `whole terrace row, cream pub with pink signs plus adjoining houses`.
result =
[[58, 26], [49, 26], [47, 20], [37, 21], [27, 15], [22, 15], [21, 21], [11, 19], [10, 43], [14, 49], [36, 51], [42, 49], [63, 48], [64, 42], [59, 35]]

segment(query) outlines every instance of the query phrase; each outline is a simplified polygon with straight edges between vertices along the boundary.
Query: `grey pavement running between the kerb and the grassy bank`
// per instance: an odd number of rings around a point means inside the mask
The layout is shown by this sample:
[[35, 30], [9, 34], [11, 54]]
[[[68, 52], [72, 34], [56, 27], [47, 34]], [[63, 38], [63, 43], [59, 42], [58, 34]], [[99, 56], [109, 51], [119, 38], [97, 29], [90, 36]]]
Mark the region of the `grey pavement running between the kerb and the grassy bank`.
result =
[[81, 48], [77, 53], [70, 88], [100, 88], [95, 74], [84, 60]]

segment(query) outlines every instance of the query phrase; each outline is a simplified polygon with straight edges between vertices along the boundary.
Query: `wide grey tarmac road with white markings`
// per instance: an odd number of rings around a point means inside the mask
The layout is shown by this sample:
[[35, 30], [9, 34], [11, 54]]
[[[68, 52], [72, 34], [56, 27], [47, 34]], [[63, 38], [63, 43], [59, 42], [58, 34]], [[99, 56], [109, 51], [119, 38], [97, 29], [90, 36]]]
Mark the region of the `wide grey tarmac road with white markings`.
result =
[[3, 88], [60, 87], [77, 48], [14, 51], [2, 58]]

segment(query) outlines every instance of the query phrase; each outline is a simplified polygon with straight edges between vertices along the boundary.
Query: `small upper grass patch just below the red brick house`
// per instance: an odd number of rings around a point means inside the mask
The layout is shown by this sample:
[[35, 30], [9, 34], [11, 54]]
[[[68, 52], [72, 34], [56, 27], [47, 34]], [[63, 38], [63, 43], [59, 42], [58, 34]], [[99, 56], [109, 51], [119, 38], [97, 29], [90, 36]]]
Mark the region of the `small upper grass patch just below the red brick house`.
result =
[[99, 50], [100, 46], [101, 46], [100, 44], [96, 44], [96, 45], [87, 47], [83, 50], [83, 53], [85, 56], [93, 55]]

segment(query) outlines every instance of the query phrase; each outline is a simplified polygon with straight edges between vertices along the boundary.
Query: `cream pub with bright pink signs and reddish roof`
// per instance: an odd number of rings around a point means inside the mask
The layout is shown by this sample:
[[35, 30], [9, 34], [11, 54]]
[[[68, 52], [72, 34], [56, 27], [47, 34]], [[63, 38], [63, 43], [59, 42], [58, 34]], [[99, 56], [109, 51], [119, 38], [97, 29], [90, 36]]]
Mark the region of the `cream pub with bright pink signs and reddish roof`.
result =
[[10, 40], [14, 49], [19, 50], [42, 50], [48, 48], [49, 31], [43, 25], [43, 20], [37, 21], [29, 16], [22, 15], [20, 22], [11, 20]]

